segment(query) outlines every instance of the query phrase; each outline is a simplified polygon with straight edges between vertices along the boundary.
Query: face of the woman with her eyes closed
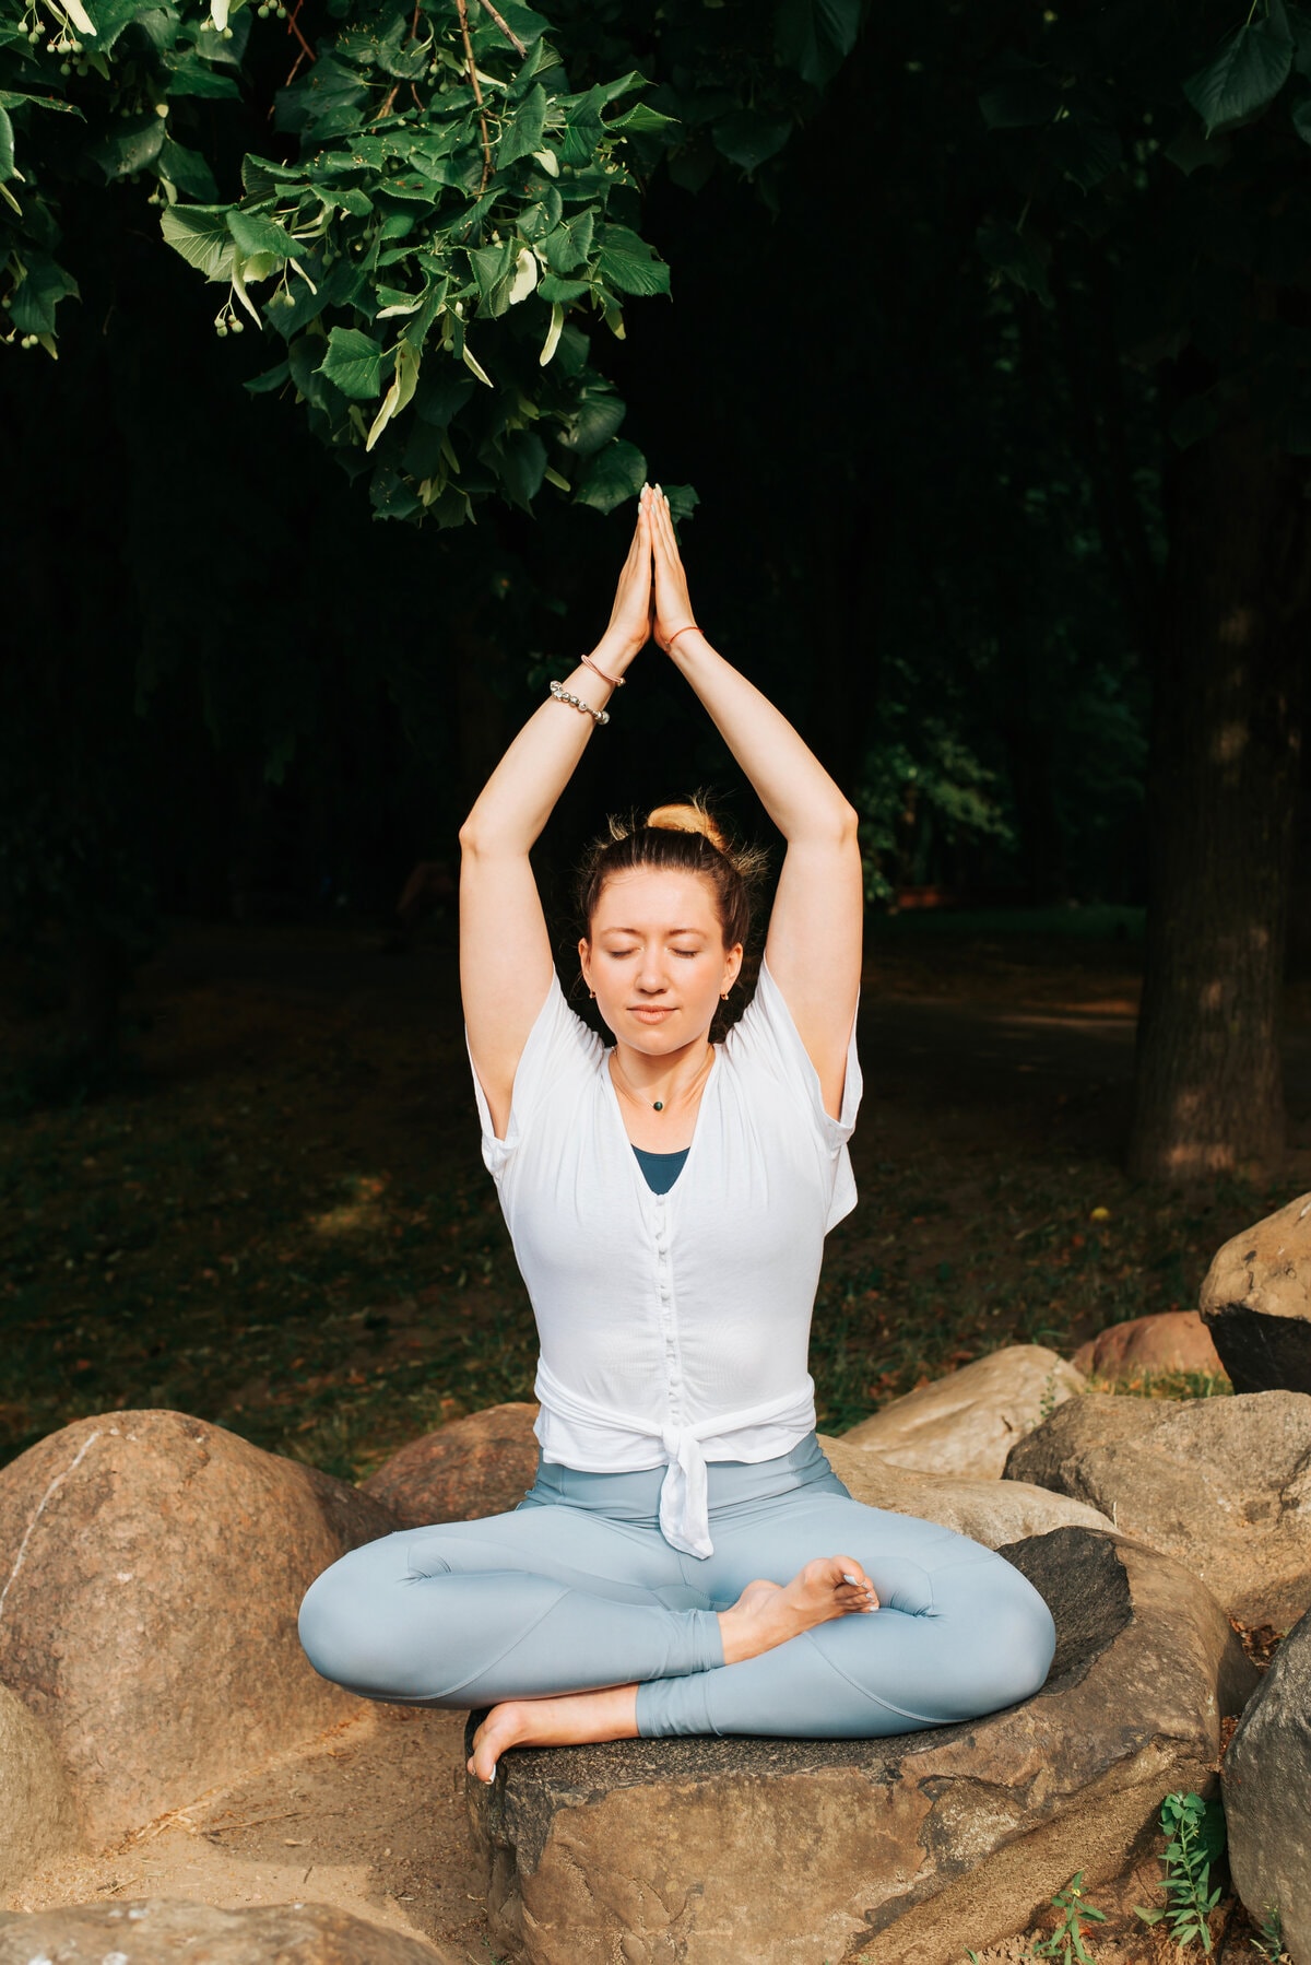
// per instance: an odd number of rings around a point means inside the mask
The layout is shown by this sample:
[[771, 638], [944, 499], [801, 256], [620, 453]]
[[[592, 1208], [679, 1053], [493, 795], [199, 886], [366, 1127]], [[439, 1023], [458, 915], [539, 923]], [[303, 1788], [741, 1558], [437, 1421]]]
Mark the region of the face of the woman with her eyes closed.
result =
[[578, 959], [615, 1038], [660, 1057], [704, 1038], [741, 969], [723, 947], [715, 890], [694, 872], [639, 867], [601, 888]]

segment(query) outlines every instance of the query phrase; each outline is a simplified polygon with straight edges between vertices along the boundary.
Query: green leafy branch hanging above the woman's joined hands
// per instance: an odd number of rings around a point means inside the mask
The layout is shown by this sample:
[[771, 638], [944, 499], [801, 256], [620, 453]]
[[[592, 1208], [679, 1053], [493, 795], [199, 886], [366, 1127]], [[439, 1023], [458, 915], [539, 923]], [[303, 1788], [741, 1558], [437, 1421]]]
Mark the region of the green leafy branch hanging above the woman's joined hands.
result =
[[[165, 242], [224, 289], [218, 338], [254, 326], [283, 344], [248, 389], [301, 403], [346, 470], [370, 474], [379, 517], [462, 525], [487, 497], [531, 511], [542, 483], [605, 513], [647, 460], [619, 436], [625, 405], [588, 328], [623, 338], [629, 299], [670, 295], [639, 232], [643, 185], [666, 159], [702, 183], [706, 134], [747, 175], [776, 157], [865, 4], [780, 0], [761, 20], [737, 0], [715, 10], [729, 31], [710, 29], [708, 75], [706, 10], [678, 0], [660, 10], [670, 53], [651, 47], [668, 71], [656, 104], [631, 65], [631, 8], [574, 10], [576, 67], [596, 79], [570, 86], [523, 0], [326, 0], [313, 47], [293, 0], [301, 53], [273, 126], [297, 155], [248, 153], [228, 200], [179, 124], [197, 100], [250, 92], [254, 20], [287, 16], [283, 0], [0, 0], [0, 77], [24, 84], [0, 100], [22, 110], [24, 155], [35, 108], [102, 132], [41, 157], [53, 183], [94, 163], [106, 183], [155, 185]], [[55, 309], [79, 289], [45, 175], [18, 169], [0, 124], [8, 340], [53, 356]], [[670, 499], [676, 515], [696, 501]]]

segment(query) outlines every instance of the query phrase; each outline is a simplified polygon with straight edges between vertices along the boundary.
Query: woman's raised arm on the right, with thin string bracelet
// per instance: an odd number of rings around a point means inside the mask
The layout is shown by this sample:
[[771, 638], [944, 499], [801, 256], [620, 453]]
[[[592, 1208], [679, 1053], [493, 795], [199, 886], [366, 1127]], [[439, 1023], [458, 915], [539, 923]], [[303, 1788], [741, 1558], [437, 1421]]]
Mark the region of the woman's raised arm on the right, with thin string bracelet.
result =
[[694, 613], [658, 485], [653, 507], [655, 635], [788, 841], [765, 961], [820, 1075], [826, 1110], [837, 1118], [861, 986], [865, 884], [857, 814], [788, 719], [700, 629], [676, 635]]

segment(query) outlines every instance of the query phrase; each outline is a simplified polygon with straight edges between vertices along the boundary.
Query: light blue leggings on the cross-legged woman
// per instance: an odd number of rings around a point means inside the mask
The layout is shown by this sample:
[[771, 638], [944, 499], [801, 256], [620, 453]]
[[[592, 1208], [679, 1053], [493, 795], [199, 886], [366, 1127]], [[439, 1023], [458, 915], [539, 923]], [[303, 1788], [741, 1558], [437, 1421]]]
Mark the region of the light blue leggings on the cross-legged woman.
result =
[[[539, 1466], [509, 1515], [405, 1529], [318, 1576], [301, 1605], [314, 1670], [370, 1700], [495, 1706], [637, 1680], [637, 1729], [867, 1739], [1034, 1694], [1055, 1627], [1002, 1556], [932, 1521], [853, 1501], [814, 1434], [790, 1454], [710, 1466], [713, 1556], [656, 1525], [662, 1468]], [[743, 1664], [715, 1611], [757, 1576], [855, 1556], [881, 1607]]]

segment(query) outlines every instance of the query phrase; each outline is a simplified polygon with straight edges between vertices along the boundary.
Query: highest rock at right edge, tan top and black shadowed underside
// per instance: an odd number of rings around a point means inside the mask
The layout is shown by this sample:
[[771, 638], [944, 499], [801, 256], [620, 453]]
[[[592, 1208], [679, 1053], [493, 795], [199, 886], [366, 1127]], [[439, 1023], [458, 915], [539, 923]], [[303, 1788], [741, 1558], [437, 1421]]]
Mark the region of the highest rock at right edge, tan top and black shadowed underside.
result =
[[1234, 1391], [1311, 1393], [1311, 1195], [1217, 1252], [1201, 1315]]

